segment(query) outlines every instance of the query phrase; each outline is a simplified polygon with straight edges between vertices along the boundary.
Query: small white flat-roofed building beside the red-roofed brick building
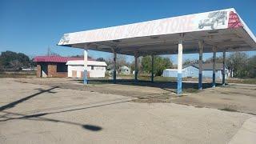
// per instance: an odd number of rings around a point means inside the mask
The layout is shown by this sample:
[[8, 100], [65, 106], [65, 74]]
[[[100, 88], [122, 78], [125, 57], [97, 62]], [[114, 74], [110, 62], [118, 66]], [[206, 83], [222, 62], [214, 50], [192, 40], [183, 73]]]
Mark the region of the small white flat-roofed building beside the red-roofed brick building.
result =
[[[68, 77], [83, 78], [84, 61], [70, 60], [66, 62]], [[88, 61], [87, 62], [87, 78], [104, 78], [106, 73], [106, 62]]]

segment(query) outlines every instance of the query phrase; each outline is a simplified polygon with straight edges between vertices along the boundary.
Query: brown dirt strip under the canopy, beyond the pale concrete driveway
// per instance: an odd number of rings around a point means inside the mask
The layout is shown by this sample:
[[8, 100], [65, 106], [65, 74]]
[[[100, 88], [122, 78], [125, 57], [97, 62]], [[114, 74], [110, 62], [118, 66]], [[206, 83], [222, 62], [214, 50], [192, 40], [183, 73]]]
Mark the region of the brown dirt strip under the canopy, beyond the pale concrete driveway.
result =
[[225, 87], [218, 84], [216, 88], [211, 88], [211, 83], [204, 82], [204, 90], [198, 91], [196, 81], [187, 81], [183, 83], [184, 96], [177, 97], [174, 93], [176, 82], [151, 83], [125, 79], [112, 84], [111, 80], [103, 79], [91, 80], [89, 86], [84, 86], [82, 80], [74, 78], [17, 78], [15, 81], [138, 98], [134, 102], [172, 102], [256, 114], [256, 85], [249, 84], [233, 83]]

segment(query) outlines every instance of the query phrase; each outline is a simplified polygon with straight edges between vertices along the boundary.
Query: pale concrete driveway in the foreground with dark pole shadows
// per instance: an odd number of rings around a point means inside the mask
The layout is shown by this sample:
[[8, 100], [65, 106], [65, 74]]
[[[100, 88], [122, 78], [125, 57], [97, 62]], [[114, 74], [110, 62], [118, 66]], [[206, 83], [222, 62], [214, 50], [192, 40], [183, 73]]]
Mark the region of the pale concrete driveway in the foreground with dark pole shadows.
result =
[[253, 118], [8, 78], [0, 99], [0, 143], [228, 143]]

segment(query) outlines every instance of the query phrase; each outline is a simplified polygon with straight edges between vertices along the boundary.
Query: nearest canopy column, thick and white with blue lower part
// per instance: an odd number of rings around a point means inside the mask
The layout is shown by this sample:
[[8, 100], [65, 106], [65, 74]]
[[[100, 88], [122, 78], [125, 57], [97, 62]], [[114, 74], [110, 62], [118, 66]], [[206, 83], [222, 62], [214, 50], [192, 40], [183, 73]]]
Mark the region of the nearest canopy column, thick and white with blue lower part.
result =
[[178, 76], [177, 76], [177, 94], [182, 94], [182, 39], [178, 41]]

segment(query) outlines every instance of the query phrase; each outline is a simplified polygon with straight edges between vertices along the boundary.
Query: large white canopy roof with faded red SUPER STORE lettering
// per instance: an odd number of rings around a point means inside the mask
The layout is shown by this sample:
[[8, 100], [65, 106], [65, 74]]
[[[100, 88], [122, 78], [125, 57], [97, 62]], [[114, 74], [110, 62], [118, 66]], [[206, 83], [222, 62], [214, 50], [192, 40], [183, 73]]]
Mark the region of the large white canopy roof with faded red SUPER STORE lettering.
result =
[[205, 43], [203, 52], [256, 50], [256, 38], [237, 12], [231, 8], [124, 26], [64, 34], [59, 46], [70, 46], [118, 54], [177, 54], [180, 34], [184, 34], [183, 53], [198, 53], [198, 40]]

